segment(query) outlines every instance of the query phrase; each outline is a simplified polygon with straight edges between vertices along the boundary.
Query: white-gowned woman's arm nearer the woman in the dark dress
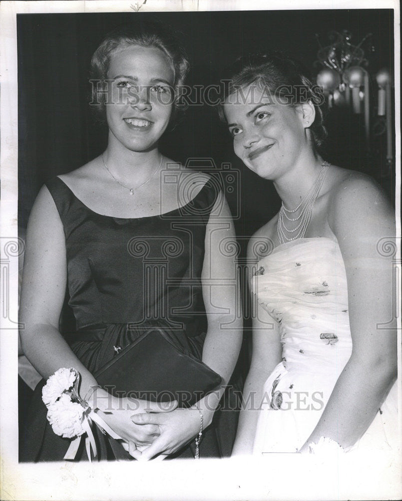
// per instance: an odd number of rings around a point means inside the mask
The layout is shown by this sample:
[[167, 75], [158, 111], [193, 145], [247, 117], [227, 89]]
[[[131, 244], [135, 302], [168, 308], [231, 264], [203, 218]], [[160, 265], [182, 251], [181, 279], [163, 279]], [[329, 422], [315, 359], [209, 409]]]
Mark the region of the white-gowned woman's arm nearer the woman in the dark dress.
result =
[[[255, 296], [253, 300], [256, 301]], [[254, 310], [253, 310], [254, 311]], [[259, 410], [268, 376], [282, 359], [282, 344], [276, 321], [258, 305], [253, 319], [253, 352], [244, 390], [232, 455], [252, 454]]]

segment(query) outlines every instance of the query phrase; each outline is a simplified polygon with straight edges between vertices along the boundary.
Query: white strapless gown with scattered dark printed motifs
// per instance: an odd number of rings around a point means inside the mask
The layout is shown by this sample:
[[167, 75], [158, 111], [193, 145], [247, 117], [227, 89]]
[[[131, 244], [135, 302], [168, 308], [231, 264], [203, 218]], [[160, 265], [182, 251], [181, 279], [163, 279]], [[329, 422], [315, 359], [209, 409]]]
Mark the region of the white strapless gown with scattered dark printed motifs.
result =
[[[264, 385], [253, 451], [296, 452], [315, 428], [351, 354], [346, 272], [338, 244], [313, 237], [276, 247], [258, 263], [252, 289], [278, 321], [283, 346], [282, 362]], [[395, 383], [355, 449], [397, 447], [397, 423]]]

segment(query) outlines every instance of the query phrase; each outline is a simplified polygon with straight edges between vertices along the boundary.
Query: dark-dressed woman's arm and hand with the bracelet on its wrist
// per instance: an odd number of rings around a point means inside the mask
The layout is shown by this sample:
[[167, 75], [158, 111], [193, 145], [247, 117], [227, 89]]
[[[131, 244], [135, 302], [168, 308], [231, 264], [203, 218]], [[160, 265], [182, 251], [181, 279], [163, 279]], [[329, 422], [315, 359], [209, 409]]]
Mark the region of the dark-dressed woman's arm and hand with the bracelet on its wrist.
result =
[[[225, 386], [235, 367], [242, 340], [242, 314], [236, 310], [239, 299], [236, 260], [229, 252], [235, 245], [233, 221], [221, 194], [211, 212], [205, 235], [202, 290], [208, 319], [202, 361], [222, 377], [222, 385], [197, 402], [202, 410], [204, 428], [212, 421]], [[225, 250], [226, 248], [226, 250]], [[240, 301], [238, 301], [240, 303]], [[192, 440], [200, 430], [197, 409], [177, 409], [165, 415], [137, 415], [136, 423], [153, 423], [161, 435], [143, 451], [143, 458], [172, 454]]]

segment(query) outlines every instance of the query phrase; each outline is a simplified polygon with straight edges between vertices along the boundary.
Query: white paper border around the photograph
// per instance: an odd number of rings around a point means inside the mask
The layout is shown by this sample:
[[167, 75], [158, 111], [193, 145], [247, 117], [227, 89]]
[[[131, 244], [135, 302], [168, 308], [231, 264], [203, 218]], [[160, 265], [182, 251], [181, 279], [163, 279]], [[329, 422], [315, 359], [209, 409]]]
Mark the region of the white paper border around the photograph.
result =
[[[18, 102], [17, 19], [19, 13], [99, 13], [157, 11], [265, 10], [265, 0], [93, 0], [10, 2], [0, 6], [1, 55], [1, 220], [2, 315], [0, 331], [0, 498], [1, 499], [398, 499], [402, 497], [401, 456], [383, 453], [361, 457], [347, 454], [336, 465], [315, 456], [272, 454], [262, 459], [206, 459], [162, 462], [40, 463], [18, 462], [18, 257], [5, 242], [18, 237]], [[317, 3], [270, 0], [270, 10], [305, 10]], [[334, 9], [321, 0], [320, 9]], [[396, 221], [400, 237], [400, 40], [399, 3], [389, 0], [342, 0], [336, 9], [393, 9], [395, 42]], [[14, 253], [14, 254], [13, 254]], [[6, 256], [7, 258], [7, 256]], [[396, 256], [400, 264], [400, 245]], [[5, 264], [7, 261], [7, 266]], [[400, 265], [399, 265], [400, 266]], [[400, 276], [400, 270], [399, 270]], [[10, 283], [10, 289], [5, 284]], [[6, 291], [7, 289], [7, 291]], [[10, 320], [12, 319], [12, 320]], [[398, 318], [398, 347], [401, 324]], [[401, 419], [401, 357], [398, 357], [398, 408]], [[401, 426], [402, 428], [402, 426]]]

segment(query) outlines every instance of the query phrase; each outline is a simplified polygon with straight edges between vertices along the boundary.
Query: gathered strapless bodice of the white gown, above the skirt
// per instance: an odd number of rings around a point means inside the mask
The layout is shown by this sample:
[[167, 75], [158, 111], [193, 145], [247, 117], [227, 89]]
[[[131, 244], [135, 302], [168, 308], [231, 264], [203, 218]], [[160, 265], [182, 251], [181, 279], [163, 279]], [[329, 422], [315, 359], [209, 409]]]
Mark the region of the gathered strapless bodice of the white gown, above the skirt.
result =
[[344, 365], [352, 341], [338, 244], [325, 237], [292, 240], [257, 268], [253, 292], [278, 322], [284, 367], [325, 374], [328, 364]]

